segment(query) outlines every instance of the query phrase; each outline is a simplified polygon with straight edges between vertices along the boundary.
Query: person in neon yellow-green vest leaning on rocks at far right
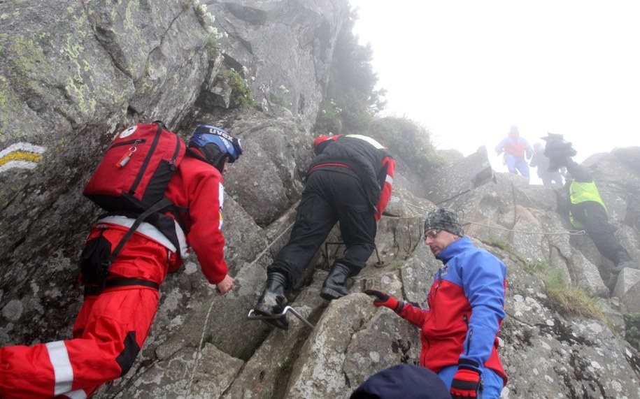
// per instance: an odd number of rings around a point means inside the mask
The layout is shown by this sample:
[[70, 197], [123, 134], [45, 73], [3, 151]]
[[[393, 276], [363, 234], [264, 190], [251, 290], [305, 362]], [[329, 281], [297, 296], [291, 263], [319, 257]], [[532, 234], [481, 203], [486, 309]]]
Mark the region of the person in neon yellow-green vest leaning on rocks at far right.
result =
[[592, 176], [583, 166], [571, 159], [576, 154], [571, 148], [571, 143], [568, 146], [562, 144], [567, 143], [562, 135], [550, 135], [546, 141], [545, 152], [550, 154], [551, 163], [565, 166], [569, 173], [564, 184], [569, 190], [569, 221], [574, 227], [583, 228], [600, 254], [613, 262], [611, 275], [606, 283], [609, 291], [613, 292], [620, 271], [624, 268], [637, 268], [637, 265], [613, 235], [614, 228], [609, 224], [606, 205]]

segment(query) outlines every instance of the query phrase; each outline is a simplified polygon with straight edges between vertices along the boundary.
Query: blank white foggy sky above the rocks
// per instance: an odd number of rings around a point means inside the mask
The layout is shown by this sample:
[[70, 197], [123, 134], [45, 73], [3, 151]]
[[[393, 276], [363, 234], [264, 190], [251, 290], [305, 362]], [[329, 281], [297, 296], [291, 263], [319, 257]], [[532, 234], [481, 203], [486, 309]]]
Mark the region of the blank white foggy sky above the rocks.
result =
[[578, 162], [640, 145], [640, 1], [349, 1], [387, 114], [440, 149], [493, 157], [513, 124], [531, 145], [564, 134]]

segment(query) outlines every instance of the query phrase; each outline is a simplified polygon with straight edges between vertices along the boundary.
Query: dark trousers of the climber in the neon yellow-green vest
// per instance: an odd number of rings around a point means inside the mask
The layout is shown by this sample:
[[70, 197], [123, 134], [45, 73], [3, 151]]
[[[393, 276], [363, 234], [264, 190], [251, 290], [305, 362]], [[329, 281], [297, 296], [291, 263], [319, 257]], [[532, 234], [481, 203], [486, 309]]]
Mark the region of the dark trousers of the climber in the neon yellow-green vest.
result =
[[627, 250], [613, 235], [613, 227], [609, 224], [602, 205], [595, 201], [585, 201], [571, 204], [570, 210], [574, 219], [585, 225], [585, 231], [602, 256], [612, 261], [615, 266], [632, 260]]

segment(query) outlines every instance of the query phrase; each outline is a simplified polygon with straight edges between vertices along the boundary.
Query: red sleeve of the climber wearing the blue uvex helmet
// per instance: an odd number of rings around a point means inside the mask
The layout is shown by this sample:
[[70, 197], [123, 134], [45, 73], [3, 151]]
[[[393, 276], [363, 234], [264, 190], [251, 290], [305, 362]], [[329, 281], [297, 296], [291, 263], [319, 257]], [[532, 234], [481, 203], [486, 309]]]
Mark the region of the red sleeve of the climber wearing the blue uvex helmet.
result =
[[224, 195], [222, 175], [207, 175], [195, 187], [189, 206], [191, 226], [187, 239], [198, 256], [202, 274], [211, 284], [221, 282], [229, 271], [225, 262], [225, 236], [220, 231]]

